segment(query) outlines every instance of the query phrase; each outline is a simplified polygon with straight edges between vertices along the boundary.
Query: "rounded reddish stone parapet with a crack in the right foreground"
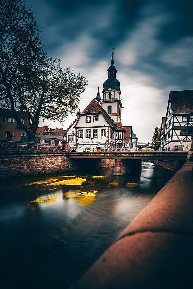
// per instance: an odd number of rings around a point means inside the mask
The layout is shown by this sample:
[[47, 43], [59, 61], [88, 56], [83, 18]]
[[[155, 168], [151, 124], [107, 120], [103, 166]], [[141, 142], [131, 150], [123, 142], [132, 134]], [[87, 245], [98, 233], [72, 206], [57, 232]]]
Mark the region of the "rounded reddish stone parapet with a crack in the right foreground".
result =
[[182, 166], [71, 289], [190, 288], [192, 165]]

